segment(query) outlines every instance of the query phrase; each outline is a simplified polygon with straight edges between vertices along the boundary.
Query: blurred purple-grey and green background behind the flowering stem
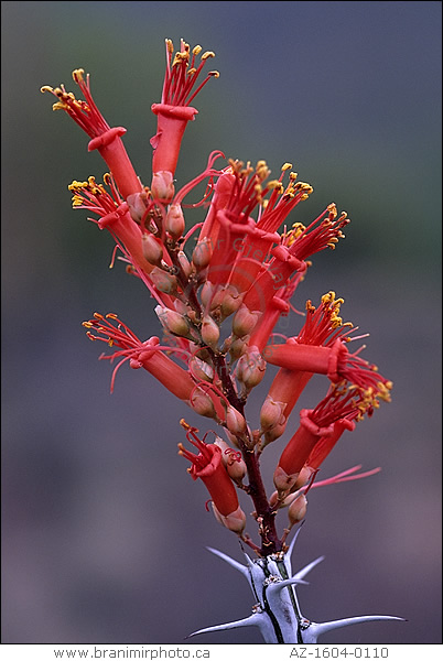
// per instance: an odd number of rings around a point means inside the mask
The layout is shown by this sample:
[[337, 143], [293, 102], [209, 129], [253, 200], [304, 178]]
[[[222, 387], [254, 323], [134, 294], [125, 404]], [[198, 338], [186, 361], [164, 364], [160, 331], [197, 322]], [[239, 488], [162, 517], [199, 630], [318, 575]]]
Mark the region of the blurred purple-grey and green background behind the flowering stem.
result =
[[[176, 454], [180, 418], [202, 431], [210, 423], [141, 370], [122, 369], [110, 395], [110, 367], [85, 338], [80, 322], [96, 310], [117, 312], [142, 338], [159, 329], [143, 286], [121, 264], [108, 268], [109, 235], [71, 208], [71, 181], [100, 177], [105, 164], [40, 94], [73, 89], [76, 67], [90, 72], [96, 102], [128, 129], [149, 184], [164, 37], [215, 51], [220, 72], [195, 104], [179, 185], [220, 149], [266, 159], [275, 175], [293, 163], [314, 186], [293, 221], [331, 202], [347, 210], [346, 240], [314, 258], [295, 304], [336, 291], [344, 318], [370, 333], [365, 357], [395, 382], [392, 403], [344, 436], [321, 475], [356, 464], [382, 472], [311, 491], [294, 565], [326, 559], [299, 588], [303, 614], [408, 620], [321, 642], [441, 642], [441, 2], [2, 2], [1, 11], [3, 642], [180, 644], [253, 604], [240, 575], [207, 552], [242, 560]], [[293, 315], [281, 332], [299, 328]], [[301, 405], [324, 392], [313, 379]], [[250, 398], [252, 425], [264, 395], [266, 383]], [[270, 490], [283, 442], [263, 456]], [[239, 629], [191, 642], [260, 641]]]

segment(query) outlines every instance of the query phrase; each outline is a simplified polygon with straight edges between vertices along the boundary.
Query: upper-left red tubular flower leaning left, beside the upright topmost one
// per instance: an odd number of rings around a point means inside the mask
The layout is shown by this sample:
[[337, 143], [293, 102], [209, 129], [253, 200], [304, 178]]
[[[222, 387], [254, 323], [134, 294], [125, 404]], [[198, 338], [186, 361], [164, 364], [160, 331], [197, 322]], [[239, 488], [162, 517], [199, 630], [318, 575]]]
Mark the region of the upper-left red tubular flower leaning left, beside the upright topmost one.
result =
[[118, 189], [123, 199], [129, 195], [140, 193], [142, 185], [136, 174], [129, 160], [128, 153], [121, 141], [121, 136], [126, 133], [123, 127], [110, 128], [90, 94], [89, 74], [84, 78], [83, 69], [73, 72], [74, 82], [80, 88], [85, 101], [77, 100], [72, 91], [66, 91], [64, 85], [55, 89], [45, 85], [42, 91], [51, 91], [58, 101], [53, 105], [54, 110], [65, 110], [72, 119], [91, 138], [88, 144], [88, 151], [98, 150], [101, 158], [106, 161]]

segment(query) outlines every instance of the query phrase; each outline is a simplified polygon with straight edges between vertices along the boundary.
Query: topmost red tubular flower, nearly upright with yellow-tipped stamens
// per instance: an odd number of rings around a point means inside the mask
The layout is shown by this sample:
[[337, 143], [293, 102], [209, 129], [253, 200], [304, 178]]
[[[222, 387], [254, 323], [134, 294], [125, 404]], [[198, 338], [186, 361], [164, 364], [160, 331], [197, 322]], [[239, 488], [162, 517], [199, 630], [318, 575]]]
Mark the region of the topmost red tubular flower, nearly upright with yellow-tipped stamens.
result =
[[162, 172], [174, 174], [186, 124], [195, 119], [198, 112], [190, 104], [209, 77], [219, 75], [218, 72], [209, 72], [205, 80], [194, 90], [206, 59], [214, 57], [214, 53], [207, 51], [203, 53], [201, 63], [196, 65], [195, 58], [201, 52], [202, 47], [195, 46], [191, 57], [190, 46], [182, 40], [181, 50], [174, 56], [174, 45], [171, 40], [166, 40], [166, 72], [162, 100], [161, 104], [151, 106], [152, 112], [158, 118], [156, 133], [151, 139], [154, 149], [152, 159], [154, 174]]

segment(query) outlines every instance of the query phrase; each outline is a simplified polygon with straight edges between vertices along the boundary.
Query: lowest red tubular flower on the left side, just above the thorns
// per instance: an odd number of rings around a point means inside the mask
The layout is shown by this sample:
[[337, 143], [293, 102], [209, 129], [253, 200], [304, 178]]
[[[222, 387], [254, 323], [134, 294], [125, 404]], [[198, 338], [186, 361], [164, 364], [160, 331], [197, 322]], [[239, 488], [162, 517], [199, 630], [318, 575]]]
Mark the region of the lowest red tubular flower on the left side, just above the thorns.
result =
[[182, 443], [179, 444], [179, 454], [191, 462], [191, 477], [194, 480], [202, 479], [218, 512], [228, 517], [238, 510], [239, 503], [236, 488], [222, 460], [222, 449], [218, 445], [201, 441], [195, 427], [191, 427], [184, 421], [181, 421], [181, 424], [186, 429], [187, 440], [198, 449], [198, 454], [190, 452]]

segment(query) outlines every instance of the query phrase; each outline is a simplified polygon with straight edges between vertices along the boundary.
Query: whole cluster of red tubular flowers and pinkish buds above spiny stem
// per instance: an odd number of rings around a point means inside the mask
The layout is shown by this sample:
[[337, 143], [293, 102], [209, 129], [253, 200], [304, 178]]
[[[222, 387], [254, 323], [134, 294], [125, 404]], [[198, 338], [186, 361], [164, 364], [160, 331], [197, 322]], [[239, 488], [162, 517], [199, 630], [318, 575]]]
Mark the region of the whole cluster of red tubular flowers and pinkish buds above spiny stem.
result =
[[[290, 163], [277, 178], [264, 161], [252, 166], [226, 160], [219, 151], [207, 158], [203, 172], [181, 188], [175, 170], [187, 123], [197, 110], [191, 106], [199, 90], [218, 72], [203, 75], [213, 52], [179, 52], [166, 40], [166, 71], [161, 101], [152, 105], [156, 117], [152, 181], [143, 185], [122, 142], [126, 129], [110, 128], [90, 91], [89, 75], [73, 74], [83, 100], [65, 87], [45, 86], [56, 97], [54, 109], [64, 110], [88, 134], [88, 150], [98, 150], [107, 164], [102, 183], [89, 176], [69, 186], [73, 206], [93, 214], [107, 229], [127, 272], [141, 279], [154, 300], [163, 337], [139, 337], [114, 314], [95, 313], [84, 322], [93, 340], [105, 342], [114, 353], [101, 358], [117, 361], [115, 375], [127, 362], [143, 368], [197, 414], [218, 425], [212, 443], [181, 421], [191, 451], [182, 443], [179, 454], [191, 464], [194, 480], [202, 480], [214, 514], [223, 525], [251, 546], [260, 559], [275, 557], [288, 549], [285, 538], [306, 512], [306, 491], [315, 486], [317, 470], [342, 434], [371, 415], [380, 401], [389, 401], [391, 382], [349, 350], [359, 339], [341, 317], [343, 299], [329, 291], [317, 305], [307, 301], [304, 324], [298, 334], [275, 333], [279, 318], [294, 310], [291, 299], [304, 280], [311, 258], [334, 249], [344, 238], [349, 219], [335, 204], [310, 225], [289, 220], [290, 214], [313, 188], [298, 180]], [[184, 201], [201, 184], [204, 221], [186, 228]], [[195, 206], [195, 205], [193, 205]], [[361, 336], [360, 336], [361, 337]], [[260, 419], [253, 424], [246, 404], [268, 369], [277, 373], [261, 394]], [[291, 415], [313, 375], [326, 379], [325, 397]], [[260, 389], [257, 390], [259, 392]], [[268, 496], [260, 474], [266, 447], [289, 431], [274, 469], [274, 491]], [[341, 474], [334, 481], [367, 474]], [[328, 483], [328, 480], [325, 480]], [[320, 483], [318, 483], [320, 484]], [[252, 499], [259, 543], [238, 495]], [[275, 516], [288, 508], [281, 532]]]

